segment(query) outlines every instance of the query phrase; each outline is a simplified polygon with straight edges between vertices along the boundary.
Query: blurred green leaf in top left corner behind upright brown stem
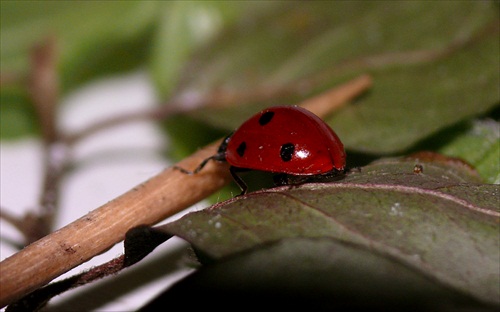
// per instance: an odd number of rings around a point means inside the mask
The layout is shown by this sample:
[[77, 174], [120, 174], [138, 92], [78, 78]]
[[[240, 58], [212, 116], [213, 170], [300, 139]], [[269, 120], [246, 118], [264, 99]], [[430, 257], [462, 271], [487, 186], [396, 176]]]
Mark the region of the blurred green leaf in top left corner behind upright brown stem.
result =
[[[35, 45], [49, 37], [56, 39], [63, 97], [91, 79], [143, 64], [158, 5], [149, 1], [2, 1], [2, 139], [38, 133], [34, 109], [28, 108], [33, 104], [27, 85]], [[10, 82], [9, 77], [17, 80]]]

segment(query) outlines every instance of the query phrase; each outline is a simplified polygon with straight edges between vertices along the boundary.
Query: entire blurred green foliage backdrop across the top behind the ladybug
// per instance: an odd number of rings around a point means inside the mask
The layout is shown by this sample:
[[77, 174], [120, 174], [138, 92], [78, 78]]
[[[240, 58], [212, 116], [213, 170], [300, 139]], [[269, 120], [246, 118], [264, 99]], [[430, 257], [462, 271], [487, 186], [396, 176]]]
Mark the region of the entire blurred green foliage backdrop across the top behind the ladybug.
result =
[[370, 92], [327, 118], [349, 166], [434, 150], [500, 183], [498, 2], [2, 1], [0, 17], [2, 140], [39, 135], [29, 53], [52, 37], [62, 96], [142, 69], [159, 105], [220, 98], [164, 120], [174, 158], [368, 73]]

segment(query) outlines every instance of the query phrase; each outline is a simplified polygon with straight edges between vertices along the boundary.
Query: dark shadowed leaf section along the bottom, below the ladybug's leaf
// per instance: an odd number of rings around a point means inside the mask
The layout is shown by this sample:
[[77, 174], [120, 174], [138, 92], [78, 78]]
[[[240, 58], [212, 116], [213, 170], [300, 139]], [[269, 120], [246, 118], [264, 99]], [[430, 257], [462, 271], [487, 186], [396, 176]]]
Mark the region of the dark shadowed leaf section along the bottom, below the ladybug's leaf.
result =
[[[140, 311], [192, 309], [442, 311], [482, 307], [386, 254], [329, 238], [285, 239], [202, 267]], [[225, 300], [220, 298], [221, 294]]]

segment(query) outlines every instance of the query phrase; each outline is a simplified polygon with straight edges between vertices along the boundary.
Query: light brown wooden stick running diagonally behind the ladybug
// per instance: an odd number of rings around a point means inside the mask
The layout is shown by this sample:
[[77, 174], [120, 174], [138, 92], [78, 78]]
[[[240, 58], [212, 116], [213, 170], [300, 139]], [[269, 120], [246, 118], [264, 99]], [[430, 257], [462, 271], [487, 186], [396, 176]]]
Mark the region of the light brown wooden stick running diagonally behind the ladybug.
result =
[[[336, 109], [371, 86], [369, 76], [361, 76], [308, 100], [311, 111], [317, 99]], [[325, 98], [328, 100], [325, 102]], [[323, 107], [320, 105], [320, 107]], [[215, 154], [219, 144], [212, 143], [178, 163], [192, 169]], [[219, 190], [231, 178], [227, 164], [209, 162], [196, 175], [168, 168], [82, 218], [27, 246], [0, 262], [0, 308], [52, 279], [88, 261], [122, 241], [132, 227], [152, 225], [199, 202]]]

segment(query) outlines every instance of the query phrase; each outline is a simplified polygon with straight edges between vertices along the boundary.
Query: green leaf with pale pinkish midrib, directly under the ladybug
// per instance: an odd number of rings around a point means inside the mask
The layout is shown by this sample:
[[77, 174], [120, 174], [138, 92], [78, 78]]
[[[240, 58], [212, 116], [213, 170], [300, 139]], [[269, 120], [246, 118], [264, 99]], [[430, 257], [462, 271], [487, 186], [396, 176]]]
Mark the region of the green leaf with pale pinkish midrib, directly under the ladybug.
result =
[[158, 229], [212, 260], [285, 238], [332, 238], [499, 305], [500, 186], [480, 180], [464, 163], [424, 153], [377, 161], [337, 183], [251, 193]]

